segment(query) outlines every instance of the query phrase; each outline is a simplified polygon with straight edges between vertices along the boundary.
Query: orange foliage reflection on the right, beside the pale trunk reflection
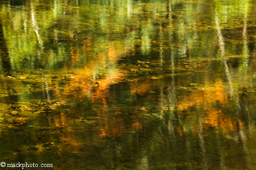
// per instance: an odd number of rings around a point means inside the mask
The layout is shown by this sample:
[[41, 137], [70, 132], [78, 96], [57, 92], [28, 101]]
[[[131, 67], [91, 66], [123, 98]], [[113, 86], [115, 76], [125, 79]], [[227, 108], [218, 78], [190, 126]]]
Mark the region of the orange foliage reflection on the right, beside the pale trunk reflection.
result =
[[183, 110], [188, 110], [191, 107], [205, 110], [205, 128], [208, 126], [221, 127], [225, 131], [234, 131], [238, 128], [237, 120], [233, 120], [229, 115], [224, 115], [221, 110], [222, 107], [228, 106], [227, 94], [221, 80], [218, 80], [218, 82], [214, 84], [214, 87], [208, 87], [205, 90], [194, 90], [188, 98], [178, 101], [180, 114], [183, 114]]

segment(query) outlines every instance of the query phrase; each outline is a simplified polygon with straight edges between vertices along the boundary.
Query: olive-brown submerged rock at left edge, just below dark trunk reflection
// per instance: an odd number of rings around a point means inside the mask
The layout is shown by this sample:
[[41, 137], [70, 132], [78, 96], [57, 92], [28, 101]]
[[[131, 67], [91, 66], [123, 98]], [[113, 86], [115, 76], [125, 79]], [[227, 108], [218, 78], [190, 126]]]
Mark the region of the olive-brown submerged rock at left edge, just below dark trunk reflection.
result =
[[19, 88], [22, 87], [23, 83], [20, 80], [12, 79], [9, 77], [0, 77], [0, 87], [4, 89], [8, 88]]

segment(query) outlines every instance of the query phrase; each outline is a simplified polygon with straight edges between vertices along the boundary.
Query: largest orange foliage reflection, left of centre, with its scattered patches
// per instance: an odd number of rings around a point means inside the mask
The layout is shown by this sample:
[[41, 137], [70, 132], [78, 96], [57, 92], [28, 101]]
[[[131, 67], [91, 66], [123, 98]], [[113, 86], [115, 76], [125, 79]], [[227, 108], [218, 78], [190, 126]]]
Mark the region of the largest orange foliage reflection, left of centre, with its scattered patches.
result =
[[[86, 59], [86, 55], [91, 50], [91, 39], [84, 41], [83, 55]], [[76, 47], [70, 48], [72, 55], [72, 67], [79, 60], [78, 50]], [[117, 61], [126, 54], [125, 48], [119, 47], [117, 49], [115, 42], [109, 42], [108, 52], [102, 52], [95, 55], [92, 61], [86, 61], [86, 64], [82, 69], [75, 70], [74, 74], [66, 75], [62, 85], [62, 82], [56, 83], [57, 86], [63, 86], [63, 88], [53, 89], [53, 94], [57, 95], [60, 100], [66, 100], [72, 98], [72, 100], [83, 101], [85, 98], [90, 98], [90, 104], [93, 105], [94, 116], [100, 117], [99, 121], [95, 121], [100, 124], [100, 128], [95, 128], [98, 133], [94, 133], [93, 138], [104, 138], [109, 136], [118, 136], [125, 133], [127, 130], [123, 119], [109, 119], [109, 112], [106, 98], [108, 90], [112, 84], [118, 83], [122, 78], [126, 76], [125, 71], [121, 71], [117, 67]], [[97, 61], [97, 62], [96, 62]], [[68, 70], [66, 70], [68, 72]], [[61, 94], [61, 95], [60, 95]], [[82, 117], [82, 116], [81, 116]], [[79, 117], [80, 118], [80, 117]], [[89, 119], [90, 120], [90, 119]], [[53, 127], [69, 129], [73, 123], [68, 124], [69, 119], [67, 114], [61, 113], [58, 116], [53, 117]], [[93, 120], [92, 120], [93, 121]], [[91, 125], [91, 124], [90, 124]], [[79, 145], [84, 141], [79, 140], [72, 129], [62, 133], [60, 140], [68, 145], [69, 149], [79, 151]]]

